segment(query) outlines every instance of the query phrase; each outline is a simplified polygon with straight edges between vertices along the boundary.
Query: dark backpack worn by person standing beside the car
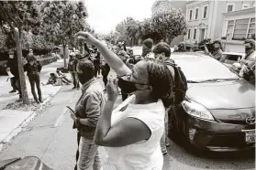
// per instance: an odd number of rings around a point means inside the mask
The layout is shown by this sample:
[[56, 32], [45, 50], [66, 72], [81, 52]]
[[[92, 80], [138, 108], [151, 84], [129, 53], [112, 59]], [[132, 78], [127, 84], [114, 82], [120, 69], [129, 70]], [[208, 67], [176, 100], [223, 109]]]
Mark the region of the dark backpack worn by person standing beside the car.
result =
[[175, 64], [173, 59], [165, 60], [164, 63], [167, 66], [172, 66], [174, 69], [173, 99], [169, 102], [173, 102], [174, 105], [179, 105], [184, 101], [187, 91], [187, 81], [184, 72]]

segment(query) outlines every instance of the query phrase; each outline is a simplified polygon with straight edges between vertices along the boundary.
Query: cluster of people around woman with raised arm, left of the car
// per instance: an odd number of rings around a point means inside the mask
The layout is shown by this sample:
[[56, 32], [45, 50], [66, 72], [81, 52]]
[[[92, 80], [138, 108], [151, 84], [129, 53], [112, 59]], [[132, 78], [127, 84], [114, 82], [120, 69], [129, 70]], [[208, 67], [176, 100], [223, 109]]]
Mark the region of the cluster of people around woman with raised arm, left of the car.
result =
[[[146, 39], [142, 55], [136, 58], [125, 43], [110, 48], [86, 32], [75, 37], [91, 46], [85, 45], [86, 55], [76, 67], [83, 92], [71, 114], [78, 131], [75, 169], [101, 169], [98, 146], [106, 147], [117, 169], [161, 169], [169, 146], [168, 112], [176, 104], [175, 71], [182, 71], [171, 59], [170, 46], [162, 42], [153, 48], [153, 41]], [[110, 68], [116, 79], [107, 80]], [[102, 69], [107, 99], [97, 79], [98, 69]], [[113, 111], [118, 89], [124, 107]]]

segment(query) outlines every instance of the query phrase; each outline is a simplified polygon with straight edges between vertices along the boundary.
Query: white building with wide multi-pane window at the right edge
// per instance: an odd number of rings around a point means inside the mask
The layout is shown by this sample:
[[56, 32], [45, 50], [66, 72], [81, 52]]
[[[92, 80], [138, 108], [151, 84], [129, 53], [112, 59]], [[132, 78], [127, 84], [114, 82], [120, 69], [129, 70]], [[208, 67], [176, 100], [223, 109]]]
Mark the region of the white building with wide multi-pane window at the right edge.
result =
[[255, 2], [228, 3], [222, 16], [221, 37], [226, 51], [244, 52], [244, 40], [255, 34]]

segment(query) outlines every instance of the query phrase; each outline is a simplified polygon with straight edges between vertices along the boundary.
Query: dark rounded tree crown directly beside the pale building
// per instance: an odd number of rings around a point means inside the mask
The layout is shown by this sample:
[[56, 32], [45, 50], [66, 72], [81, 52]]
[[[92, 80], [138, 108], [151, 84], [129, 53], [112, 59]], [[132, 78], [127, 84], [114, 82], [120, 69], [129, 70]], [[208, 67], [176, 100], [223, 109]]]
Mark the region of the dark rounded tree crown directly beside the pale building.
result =
[[187, 31], [182, 11], [174, 8], [171, 11], [152, 16], [151, 26], [162, 39], [167, 39], [168, 44], [171, 44], [174, 37], [185, 35]]

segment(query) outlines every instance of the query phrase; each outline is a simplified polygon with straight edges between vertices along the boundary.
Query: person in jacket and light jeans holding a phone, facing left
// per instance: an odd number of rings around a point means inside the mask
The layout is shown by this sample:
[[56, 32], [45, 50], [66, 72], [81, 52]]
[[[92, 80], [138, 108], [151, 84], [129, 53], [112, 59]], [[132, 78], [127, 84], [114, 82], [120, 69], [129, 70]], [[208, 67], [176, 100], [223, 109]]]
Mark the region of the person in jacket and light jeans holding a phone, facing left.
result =
[[77, 74], [83, 84], [82, 95], [75, 105], [73, 128], [77, 129], [78, 151], [75, 170], [102, 168], [98, 146], [94, 143], [95, 129], [106, 102], [100, 82], [95, 79], [94, 63], [88, 59], [78, 62]]

